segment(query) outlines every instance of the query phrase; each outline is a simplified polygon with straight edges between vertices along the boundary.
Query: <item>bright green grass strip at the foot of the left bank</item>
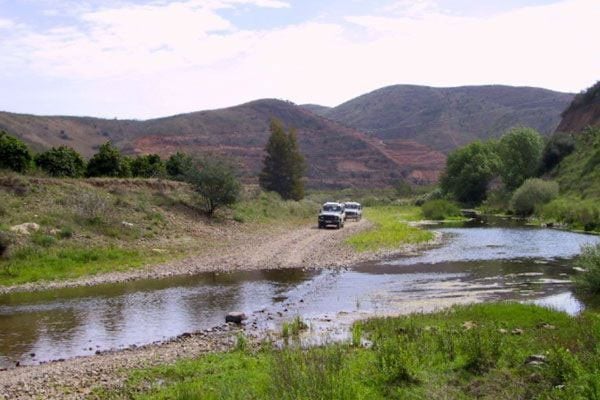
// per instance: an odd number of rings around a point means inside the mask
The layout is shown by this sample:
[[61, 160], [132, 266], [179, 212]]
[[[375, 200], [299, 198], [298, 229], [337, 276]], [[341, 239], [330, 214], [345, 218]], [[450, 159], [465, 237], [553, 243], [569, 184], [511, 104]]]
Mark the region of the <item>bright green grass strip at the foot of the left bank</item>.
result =
[[22, 247], [9, 259], [0, 260], [0, 285], [73, 279], [103, 272], [125, 271], [150, 262], [160, 262], [164, 255], [147, 255], [120, 247]]

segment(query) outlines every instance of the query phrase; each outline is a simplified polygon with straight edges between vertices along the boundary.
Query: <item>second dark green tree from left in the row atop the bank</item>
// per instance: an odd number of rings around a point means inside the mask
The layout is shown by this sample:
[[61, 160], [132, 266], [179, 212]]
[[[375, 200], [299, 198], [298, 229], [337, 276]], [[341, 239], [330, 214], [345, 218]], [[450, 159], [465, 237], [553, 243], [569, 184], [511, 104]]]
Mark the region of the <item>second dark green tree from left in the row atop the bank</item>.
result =
[[78, 178], [85, 172], [81, 155], [67, 146], [53, 147], [35, 156], [38, 168], [51, 176]]

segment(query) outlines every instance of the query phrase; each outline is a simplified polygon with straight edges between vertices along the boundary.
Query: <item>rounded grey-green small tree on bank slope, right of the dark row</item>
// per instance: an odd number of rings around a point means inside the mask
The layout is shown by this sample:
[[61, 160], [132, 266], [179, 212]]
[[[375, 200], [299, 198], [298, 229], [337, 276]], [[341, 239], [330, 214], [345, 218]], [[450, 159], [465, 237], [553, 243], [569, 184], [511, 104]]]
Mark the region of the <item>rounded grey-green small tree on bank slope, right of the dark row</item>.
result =
[[205, 158], [189, 169], [185, 180], [202, 198], [202, 207], [213, 215], [219, 207], [234, 204], [241, 191], [233, 167], [217, 158]]

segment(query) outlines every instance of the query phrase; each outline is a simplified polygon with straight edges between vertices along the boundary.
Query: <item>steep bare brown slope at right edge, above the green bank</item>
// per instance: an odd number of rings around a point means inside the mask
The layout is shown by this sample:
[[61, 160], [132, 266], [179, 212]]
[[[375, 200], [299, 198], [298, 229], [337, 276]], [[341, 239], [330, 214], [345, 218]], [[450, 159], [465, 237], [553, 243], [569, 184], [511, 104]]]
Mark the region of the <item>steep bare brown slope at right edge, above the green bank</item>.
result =
[[600, 126], [600, 81], [578, 94], [562, 113], [557, 132], [581, 132], [588, 126]]

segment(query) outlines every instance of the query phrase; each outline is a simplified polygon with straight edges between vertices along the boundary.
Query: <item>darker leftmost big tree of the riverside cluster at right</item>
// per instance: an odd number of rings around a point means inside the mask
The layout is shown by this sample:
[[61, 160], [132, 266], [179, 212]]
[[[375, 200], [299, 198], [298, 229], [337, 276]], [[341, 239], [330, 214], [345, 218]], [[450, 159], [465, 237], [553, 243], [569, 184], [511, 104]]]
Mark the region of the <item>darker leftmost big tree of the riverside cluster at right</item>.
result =
[[452, 152], [440, 181], [442, 191], [465, 204], [476, 205], [485, 200], [500, 164], [495, 147], [493, 142], [476, 141]]

